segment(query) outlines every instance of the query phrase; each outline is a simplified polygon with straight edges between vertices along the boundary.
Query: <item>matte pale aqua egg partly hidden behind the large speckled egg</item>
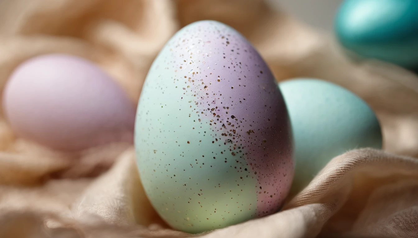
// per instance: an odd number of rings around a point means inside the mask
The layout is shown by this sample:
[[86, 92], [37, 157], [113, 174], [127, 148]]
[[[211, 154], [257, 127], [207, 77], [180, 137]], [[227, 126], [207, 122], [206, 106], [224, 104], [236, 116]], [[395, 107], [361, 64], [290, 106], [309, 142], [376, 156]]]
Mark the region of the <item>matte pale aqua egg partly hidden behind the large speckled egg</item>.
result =
[[357, 95], [317, 79], [279, 83], [291, 118], [297, 193], [335, 156], [356, 148], [382, 147], [379, 121]]

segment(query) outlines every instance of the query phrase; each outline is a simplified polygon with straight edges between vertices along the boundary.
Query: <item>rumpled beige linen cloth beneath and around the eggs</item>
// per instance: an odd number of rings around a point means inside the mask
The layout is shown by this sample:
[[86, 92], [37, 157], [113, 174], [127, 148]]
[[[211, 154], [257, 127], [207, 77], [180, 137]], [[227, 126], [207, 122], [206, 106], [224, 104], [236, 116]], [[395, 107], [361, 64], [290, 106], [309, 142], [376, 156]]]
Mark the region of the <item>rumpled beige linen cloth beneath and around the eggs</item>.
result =
[[[79, 55], [106, 70], [134, 104], [153, 58], [184, 25], [239, 30], [277, 80], [322, 78], [362, 97], [384, 150], [340, 155], [279, 213], [201, 237], [418, 237], [418, 78], [347, 58], [331, 36], [261, 0], [0, 0], [0, 86], [35, 55]], [[133, 145], [65, 154], [16, 138], [0, 118], [0, 237], [188, 237], [148, 202]]]

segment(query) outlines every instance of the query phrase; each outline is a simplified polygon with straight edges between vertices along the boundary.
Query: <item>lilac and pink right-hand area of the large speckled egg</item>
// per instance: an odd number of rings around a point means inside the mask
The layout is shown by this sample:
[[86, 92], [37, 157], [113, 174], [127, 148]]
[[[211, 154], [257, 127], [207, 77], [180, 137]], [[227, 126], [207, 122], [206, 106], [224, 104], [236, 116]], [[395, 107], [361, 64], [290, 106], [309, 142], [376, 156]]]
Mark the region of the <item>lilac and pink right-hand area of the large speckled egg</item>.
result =
[[[178, 39], [180, 42], [171, 49], [173, 55], [181, 54], [180, 58], [183, 58], [183, 62], [172, 67], [178, 67], [175, 69], [176, 76], [184, 74], [184, 80], [175, 78], [174, 83], [184, 82], [187, 85], [182, 88], [185, 90], [183, 95], [194, 97], [194, 100], [189, 101], [191, 105], [188, 113], [197, 113], [207, 119], [205, 123], [209, 123], [212, 129], [209, 135], [214, 138], [212, 143], [216, 142], [219, 147], [222, 143], [229, 145], [228, 150], [217, 152], [221, 155], [230, 153], [238, 157], [233, 158], [236, 163], [245, 162], [250, 165], [252, 171], [248, 171], [249, 174], [253, 172], [257, 175], [259, 172], [257, 180], [260, 186], [257, 187], [257, 193], [265, 195], [259, 196], [261, 200], [258, 204], [263, 204], [262, 207], [268, 210], [257, 209], [258, 215], [274, 212], [282, 199], [268, 198], [281, 195], [282, 180], [288, 186], [292, 177], [289, 176], [289, 180], [286, 175], [292, 173], [293, 164], [289, 159], [291, 147], [288, 142], [290, 135], [287, 130], [287, 114], [283, 113], [284, 104], [280, 103], [281, 94], [274, 85], [273, 75], [240, 35], [216, 28], [193, 30], [195, 32], [184, 32]], [[209, 35], [215, 36], [215, 41], [221, 44], [201, 40]], [[197, 42], [194, 39], [198, 39]], [[195, 44], [200, 44], [202, 49], [197, 51], [196, 59], [192, 50]], [[246, 63], [241, 62], [244, 60]], [[179, 100], [183, 99], [179, 95]], [[285, 129], [282, 131], [282, 128]], [[283, 140], [281, 146], [280, 139]], [[286, 193], [287, 189], [284, 191]]]

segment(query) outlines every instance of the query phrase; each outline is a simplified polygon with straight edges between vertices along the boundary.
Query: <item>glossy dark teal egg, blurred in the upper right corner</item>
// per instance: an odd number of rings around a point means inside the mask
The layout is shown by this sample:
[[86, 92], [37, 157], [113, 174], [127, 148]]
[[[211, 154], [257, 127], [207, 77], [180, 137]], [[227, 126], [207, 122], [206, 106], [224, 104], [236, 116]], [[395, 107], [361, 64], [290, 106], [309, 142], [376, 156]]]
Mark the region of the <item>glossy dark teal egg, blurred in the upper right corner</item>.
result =
[[345, 0], [335, 32], [359, 56], [418, 69], [417, 0]]

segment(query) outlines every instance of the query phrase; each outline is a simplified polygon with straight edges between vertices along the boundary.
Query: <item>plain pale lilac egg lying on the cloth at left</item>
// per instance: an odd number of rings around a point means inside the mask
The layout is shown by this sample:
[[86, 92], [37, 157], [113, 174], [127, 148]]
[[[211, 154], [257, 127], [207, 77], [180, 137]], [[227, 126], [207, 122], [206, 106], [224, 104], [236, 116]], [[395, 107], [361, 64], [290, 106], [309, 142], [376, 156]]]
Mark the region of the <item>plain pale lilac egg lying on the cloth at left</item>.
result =
[[135, 106], [109, 75], [76, 56], [20, 64], [5, 85], [3, 109], [18, 136], [56, 150], [133, 143]]

